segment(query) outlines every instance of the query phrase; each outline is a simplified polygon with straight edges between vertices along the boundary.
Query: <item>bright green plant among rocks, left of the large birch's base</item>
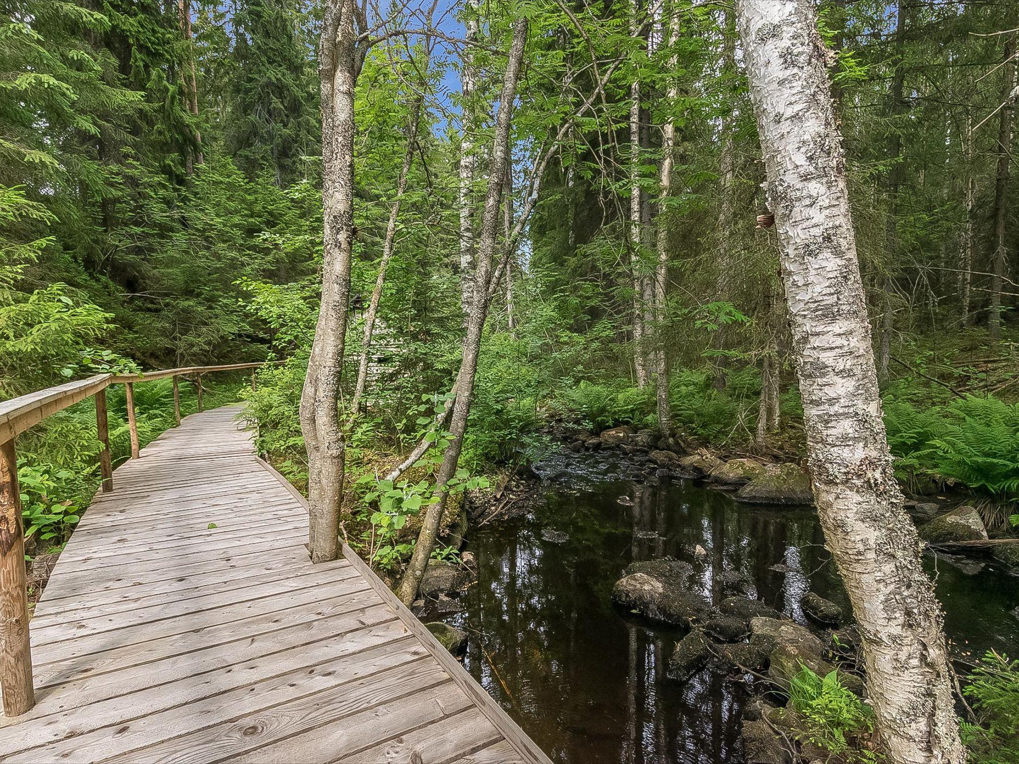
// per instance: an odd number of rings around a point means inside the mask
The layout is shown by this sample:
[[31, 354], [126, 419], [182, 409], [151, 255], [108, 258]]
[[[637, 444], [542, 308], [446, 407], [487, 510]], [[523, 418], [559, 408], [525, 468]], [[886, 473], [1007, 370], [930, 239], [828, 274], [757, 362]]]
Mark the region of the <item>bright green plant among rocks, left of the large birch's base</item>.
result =
[[797, 739], [824, 750], [845, 762], [874, 762], [871, 748], [873, 711], [848, 690], [835, 670], [819, 676], [801, 665], [789, 688], [789, 705], [798, 719]]

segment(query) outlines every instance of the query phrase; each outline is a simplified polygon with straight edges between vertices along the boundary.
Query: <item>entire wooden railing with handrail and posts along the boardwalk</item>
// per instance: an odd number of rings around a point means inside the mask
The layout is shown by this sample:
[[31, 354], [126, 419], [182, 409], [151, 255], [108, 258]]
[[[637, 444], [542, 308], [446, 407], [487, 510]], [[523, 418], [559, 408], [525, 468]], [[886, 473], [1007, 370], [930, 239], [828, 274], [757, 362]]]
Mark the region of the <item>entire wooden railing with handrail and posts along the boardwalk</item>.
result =
[[[187, 366], [144, 374], [97, 374], [88, 379], [67, 382], [0, 403], [0, 687], [7, 716], [18, 716], [35, 705], [32, 686], [32, 652], [29, 646], [29, 599], [24, 570], [24, 531], [21, 501], [17, 486], [17, 455], [14, 439], [47, 417], [92, 396], [96, 400], [96, 434], [101, 448], [99, 469], [104, 493], [113, 490], [113, 458], [110, 452], [109, 424], [106, 414], [106, 388], [124, 386], [127, 398], [127, 425], [130, 430], [130, 457], [139, 457], [138, 420], [135, 416], [135, 384], [171, 377], [173, 380], [173, 416], [180, 424], [179, 377], [194, 375], [198, 390], [198, 410], [202, 411], [202, 375], [239, 369], [256, 369], [267, 364], [226, 364], [224, 366]], [[252, 385], [255, 378], [252, 377]]]

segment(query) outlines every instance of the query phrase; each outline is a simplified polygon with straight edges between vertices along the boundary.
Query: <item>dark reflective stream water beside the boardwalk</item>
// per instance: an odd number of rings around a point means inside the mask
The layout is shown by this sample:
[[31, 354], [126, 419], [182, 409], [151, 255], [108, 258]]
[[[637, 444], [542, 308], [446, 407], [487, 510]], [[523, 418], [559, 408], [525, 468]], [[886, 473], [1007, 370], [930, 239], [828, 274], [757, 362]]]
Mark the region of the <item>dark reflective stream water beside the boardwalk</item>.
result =
[[[679, 635], [624, 618], [609, 594], [631, 561], [693, 560], [699, 544], [712, 601], [723, 596], [718, 574], [739, 571], [751, 596], [801, 621], [811, 589], [846, 604], [813, 512], [738, 504], [691, 481], [649, 486], [611, 454], [564, 453], [539, 468], [555, 476], [544, 501], [472, 535], [479, 580], [446, 618], [470, 634], [468, 669], [555, 762], [742, 762], [741, 686], [706, 669], [668, 679]], [[957, 655], [1019, 654], [1019, 578], [989, 563], [927, 564]]]

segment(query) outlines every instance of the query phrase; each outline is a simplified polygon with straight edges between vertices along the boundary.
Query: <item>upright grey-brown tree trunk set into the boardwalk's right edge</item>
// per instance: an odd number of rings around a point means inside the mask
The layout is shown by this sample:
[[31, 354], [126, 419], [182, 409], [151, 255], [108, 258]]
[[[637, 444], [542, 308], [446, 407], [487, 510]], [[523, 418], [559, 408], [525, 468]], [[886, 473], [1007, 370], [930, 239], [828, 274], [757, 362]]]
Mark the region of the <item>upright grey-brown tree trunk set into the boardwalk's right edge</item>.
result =
[[339, 421], [354, 247], [354, 88], [360, 71], [353, 0], [329, 0], [322, 19], [322, 302], [301, 394], [308, 449], [309, 543], [314, 562], [335, 559], [346, 443]]

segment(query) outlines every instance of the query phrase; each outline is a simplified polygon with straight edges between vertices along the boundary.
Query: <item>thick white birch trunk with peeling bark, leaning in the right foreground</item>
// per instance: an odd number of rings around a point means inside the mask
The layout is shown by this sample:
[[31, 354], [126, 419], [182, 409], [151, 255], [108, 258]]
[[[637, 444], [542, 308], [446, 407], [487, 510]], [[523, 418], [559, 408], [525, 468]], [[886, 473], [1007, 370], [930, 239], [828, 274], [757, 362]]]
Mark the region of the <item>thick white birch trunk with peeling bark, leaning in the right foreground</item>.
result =
[[895, 764], [963, 764], [942, 611], [889, 452], [841, 135], [811, 0], [738, 0], [814, 498]]

